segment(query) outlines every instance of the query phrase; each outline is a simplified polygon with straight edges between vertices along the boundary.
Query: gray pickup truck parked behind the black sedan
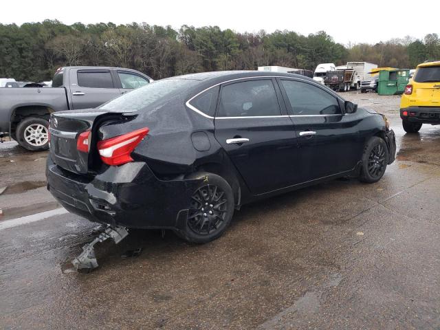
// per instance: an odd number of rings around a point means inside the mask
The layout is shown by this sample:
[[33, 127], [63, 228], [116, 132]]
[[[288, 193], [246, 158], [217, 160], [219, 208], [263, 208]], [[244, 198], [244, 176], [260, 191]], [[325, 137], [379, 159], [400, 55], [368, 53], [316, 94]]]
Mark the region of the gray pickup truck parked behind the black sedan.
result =
[[0, 88], [0, 133], [30, 151], [48, 147], [50, 113], [95, 108], [153, 80], [119, 67], [61, 67], [52, 88]]

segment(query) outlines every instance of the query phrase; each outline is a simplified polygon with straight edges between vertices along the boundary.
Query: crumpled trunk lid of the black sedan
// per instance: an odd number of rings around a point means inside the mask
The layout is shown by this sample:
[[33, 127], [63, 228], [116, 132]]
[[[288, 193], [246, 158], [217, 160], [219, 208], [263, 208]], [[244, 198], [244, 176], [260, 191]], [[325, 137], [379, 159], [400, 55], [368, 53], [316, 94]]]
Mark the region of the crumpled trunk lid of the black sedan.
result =
[[[74, 173], [87, 174], [91, 162], [96, 157], [98, 135], [96, 127], [121, 113], [101, 109], [84, 109], [53, 113], [50, 120], [50, 155], [58, 166]], [[90, 131], [89, 152], [78, 151], [77, 142], [80, 133]]]

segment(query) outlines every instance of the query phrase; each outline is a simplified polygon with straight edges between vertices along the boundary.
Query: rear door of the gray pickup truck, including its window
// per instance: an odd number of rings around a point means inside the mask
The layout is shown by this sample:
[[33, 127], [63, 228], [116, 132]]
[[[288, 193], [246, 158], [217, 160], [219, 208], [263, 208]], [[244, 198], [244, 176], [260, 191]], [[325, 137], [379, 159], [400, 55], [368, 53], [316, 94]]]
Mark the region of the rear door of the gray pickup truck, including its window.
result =
[[110, 69], [71, 69], [69, 79], [74, 109], [96, 108], [121, 94]]

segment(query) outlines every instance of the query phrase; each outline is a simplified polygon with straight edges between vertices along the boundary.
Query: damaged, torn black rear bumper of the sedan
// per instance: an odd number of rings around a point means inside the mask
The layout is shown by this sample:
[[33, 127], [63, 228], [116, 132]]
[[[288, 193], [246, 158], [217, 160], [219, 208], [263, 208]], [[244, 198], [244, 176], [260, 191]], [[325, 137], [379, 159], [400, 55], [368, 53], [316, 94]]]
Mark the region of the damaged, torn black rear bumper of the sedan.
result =
[[159, 180], [143, 162], [110, 166], [88, 177], [47, 157], [47, 189], [69, 212], [113, 227], [183, 228], [199, 179]]

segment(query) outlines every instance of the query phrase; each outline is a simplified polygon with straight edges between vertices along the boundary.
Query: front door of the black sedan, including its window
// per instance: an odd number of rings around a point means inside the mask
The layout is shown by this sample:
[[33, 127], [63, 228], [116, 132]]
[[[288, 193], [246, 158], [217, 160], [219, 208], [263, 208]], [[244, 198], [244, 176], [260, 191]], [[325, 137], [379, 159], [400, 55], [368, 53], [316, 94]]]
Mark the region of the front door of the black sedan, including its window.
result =
[[342, 114], [340, 101], [326, 87], [305, 80], [279, 80], [300, 145], [304, 181], [351, 170], [360, 160], [359, 118]]

